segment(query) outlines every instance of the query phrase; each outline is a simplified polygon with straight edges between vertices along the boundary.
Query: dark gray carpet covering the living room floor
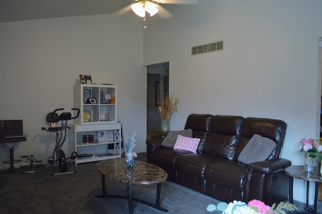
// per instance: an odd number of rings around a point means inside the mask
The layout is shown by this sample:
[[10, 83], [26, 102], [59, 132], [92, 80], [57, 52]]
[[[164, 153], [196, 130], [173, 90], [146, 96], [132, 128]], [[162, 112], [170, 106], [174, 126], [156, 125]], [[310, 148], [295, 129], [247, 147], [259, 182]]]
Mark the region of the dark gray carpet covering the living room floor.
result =
[[[138, 160], [146, 161], [146, 154], [139, 153]], [[96, 170], [97, 162], [74, 166], [68, 170], [76, 173], [51, 176], [57, 166], [43, 167], [43, 172], [30, 174], [0, 174], [0, 213], [128, 213], [128, 201], [122, 198], [99, 198], [102, 194], [101, 174]], [[22, 170], [24, 171], [24, 170]], [[126, 196], [126, 184], [106, 179], [107, 194]], [[133, 197], [155, 202], [156, 184], [133, 185]], [[133, 202], [133, 213], [209, 213], [208, 204], [219, 201], [165, 181], [162, 183], [160, 205], [168, 212], [159, 211], [142, 203]], [[295, 201], [303, 210], [303, 203]], [[318, 208], [321, 201], [318, 202]], [[318, 212], [322, 207], [318, 209]], [[217, 213], [217, 212], [211, 212]]]

